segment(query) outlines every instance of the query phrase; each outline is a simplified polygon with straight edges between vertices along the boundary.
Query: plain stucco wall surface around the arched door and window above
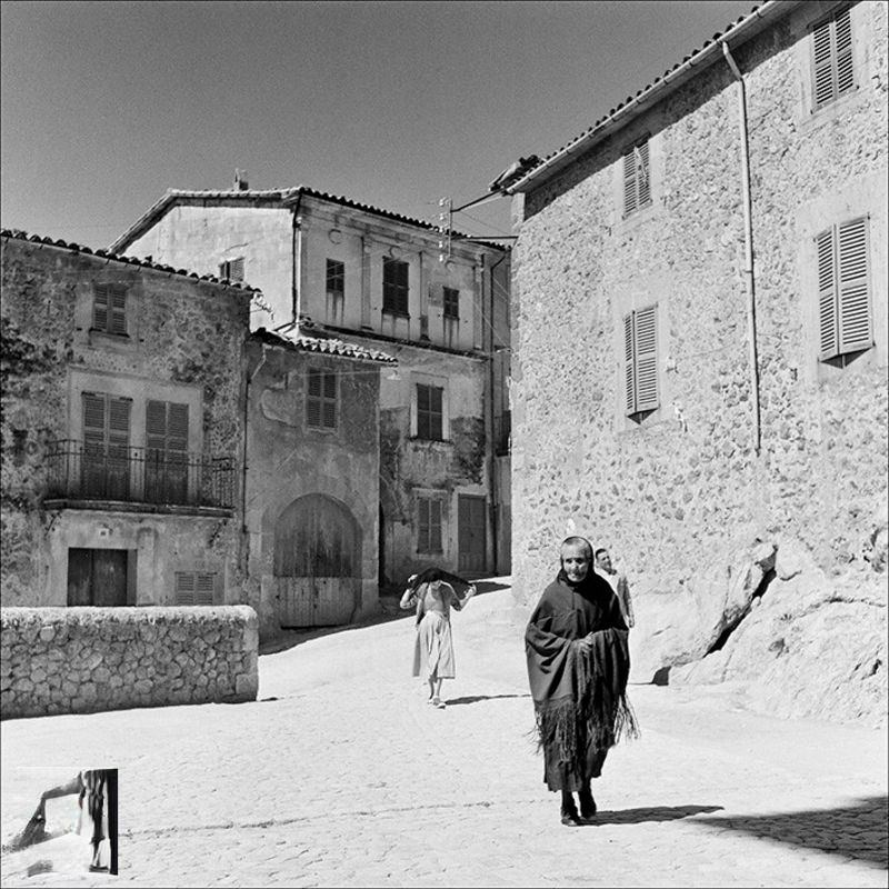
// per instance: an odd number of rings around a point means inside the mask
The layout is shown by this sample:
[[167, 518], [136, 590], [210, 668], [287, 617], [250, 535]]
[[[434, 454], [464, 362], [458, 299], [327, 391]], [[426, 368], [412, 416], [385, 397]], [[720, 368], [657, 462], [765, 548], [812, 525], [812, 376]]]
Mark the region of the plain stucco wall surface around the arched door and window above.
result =
[[[341, 505], [361, 533], [360, 595], [352, 619], [378, 606], [380, 364], [294, 352], [250, 342], [247, 526], [250, 576], [261, 585], [263, 635], [280, 628], [273, 577], [274, 529], [299, 498], [321, 495]], [[336, 430], [306, 424], [309, 368], [337, 374]], [[383, 369], [386, 372], [386, 369]]]

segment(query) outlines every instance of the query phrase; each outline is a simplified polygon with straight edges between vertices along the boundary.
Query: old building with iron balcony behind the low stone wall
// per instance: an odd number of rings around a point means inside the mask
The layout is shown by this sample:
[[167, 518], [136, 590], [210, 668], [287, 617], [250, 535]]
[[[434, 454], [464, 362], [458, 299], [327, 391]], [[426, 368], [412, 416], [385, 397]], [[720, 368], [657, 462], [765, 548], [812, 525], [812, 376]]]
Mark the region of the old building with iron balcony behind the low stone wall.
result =
[[252, 289], [1, 237], [3, 605], [244, 601]]

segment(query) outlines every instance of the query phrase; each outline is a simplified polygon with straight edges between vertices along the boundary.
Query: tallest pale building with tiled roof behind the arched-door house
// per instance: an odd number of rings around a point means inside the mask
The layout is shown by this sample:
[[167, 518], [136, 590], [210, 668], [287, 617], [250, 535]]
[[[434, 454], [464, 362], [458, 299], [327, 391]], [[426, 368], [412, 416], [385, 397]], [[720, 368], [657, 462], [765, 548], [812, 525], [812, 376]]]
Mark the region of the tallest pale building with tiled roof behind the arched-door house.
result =
[[266, 300], [254, 329], [310, 319], [394, 357], [379, 390], [380, 586], [429, 563], [509, 570], [506, 250], [310, 188], [241, 180], [168, 191], [110, 249], [246, 278]]

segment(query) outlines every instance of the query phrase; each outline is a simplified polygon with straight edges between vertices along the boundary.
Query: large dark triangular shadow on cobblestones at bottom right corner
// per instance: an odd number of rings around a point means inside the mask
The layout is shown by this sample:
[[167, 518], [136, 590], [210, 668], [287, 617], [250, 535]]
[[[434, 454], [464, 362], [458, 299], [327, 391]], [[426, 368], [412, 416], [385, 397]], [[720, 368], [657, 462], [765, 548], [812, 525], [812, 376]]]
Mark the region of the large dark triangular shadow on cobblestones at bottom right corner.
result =
[[760, 839], [790, 842], [822, 852], [851, 856], [889, 867], [889, 806], [886, 797], [866, 797], [855, 806], [742, 818], [700, 818]]

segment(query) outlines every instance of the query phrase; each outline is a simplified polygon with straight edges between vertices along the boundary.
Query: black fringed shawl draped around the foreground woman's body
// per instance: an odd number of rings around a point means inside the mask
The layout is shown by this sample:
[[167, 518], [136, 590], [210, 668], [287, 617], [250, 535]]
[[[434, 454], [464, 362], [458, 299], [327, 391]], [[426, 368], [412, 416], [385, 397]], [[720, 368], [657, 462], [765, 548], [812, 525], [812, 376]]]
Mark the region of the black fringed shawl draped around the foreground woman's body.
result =
[[[588, 651], [579, 643], [593, 633]], [[543, 591], [525, 635], [539, 747], [576, 762], [638, 735], [627, 700], [627, 625], [608, 581], [590, 568], [578, 585], [563, 571]]]

